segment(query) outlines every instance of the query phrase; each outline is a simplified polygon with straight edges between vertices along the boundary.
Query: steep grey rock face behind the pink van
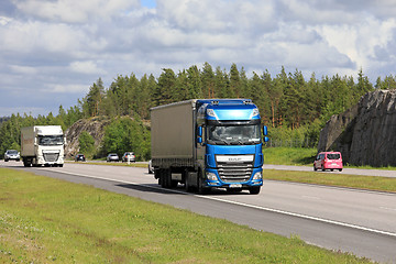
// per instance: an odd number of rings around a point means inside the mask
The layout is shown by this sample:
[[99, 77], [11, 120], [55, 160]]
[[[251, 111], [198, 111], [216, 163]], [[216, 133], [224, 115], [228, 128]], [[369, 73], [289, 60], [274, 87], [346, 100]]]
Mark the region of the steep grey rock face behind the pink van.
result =
[[396, 166], [396, 90], [375, 90], [320, 132], [318, 152], [340, 151], [352, 165]]

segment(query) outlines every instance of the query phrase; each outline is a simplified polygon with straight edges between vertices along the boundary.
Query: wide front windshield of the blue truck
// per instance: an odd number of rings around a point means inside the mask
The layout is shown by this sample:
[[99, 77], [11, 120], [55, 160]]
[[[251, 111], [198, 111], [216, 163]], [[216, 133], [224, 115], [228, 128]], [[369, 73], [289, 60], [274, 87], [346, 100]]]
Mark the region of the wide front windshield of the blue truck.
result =
[[260, 124], [208, 125], [208, 144], [252, 145], [261, 143]]

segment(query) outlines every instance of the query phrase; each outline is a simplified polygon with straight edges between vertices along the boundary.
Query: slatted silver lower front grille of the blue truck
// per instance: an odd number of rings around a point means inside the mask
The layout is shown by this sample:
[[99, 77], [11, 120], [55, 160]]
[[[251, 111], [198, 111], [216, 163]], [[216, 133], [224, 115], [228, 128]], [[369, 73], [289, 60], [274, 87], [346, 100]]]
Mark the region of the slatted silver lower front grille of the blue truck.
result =
[[248, 182], [253, 172], [253, 163], [218, 162], [219, 176], [224, 183]]

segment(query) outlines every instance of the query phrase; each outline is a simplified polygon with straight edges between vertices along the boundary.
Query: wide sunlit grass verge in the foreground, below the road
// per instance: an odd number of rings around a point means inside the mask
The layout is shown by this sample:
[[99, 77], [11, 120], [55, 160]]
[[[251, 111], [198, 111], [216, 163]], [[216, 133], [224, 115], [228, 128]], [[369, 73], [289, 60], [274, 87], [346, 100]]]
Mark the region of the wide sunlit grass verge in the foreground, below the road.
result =
[[370, 263], [226, 220], [0, 168], [0, 263]]

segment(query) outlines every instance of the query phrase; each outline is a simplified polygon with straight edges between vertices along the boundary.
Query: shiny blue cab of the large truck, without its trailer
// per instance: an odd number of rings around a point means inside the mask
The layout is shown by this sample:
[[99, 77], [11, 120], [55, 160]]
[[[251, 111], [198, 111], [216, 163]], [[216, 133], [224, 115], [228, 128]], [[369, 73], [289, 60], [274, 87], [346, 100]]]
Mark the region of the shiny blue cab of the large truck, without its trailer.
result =
[[202, 187], [258, 194], [263, 185], [262, 134], [267, 132], [257, 107], [251, 100], [230, 99], [199, 100], [197, 108]]

